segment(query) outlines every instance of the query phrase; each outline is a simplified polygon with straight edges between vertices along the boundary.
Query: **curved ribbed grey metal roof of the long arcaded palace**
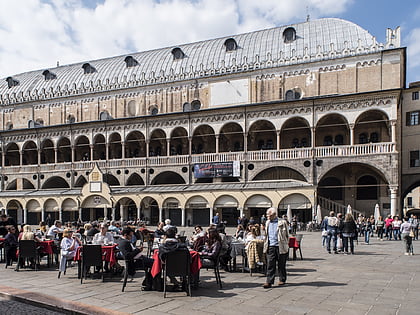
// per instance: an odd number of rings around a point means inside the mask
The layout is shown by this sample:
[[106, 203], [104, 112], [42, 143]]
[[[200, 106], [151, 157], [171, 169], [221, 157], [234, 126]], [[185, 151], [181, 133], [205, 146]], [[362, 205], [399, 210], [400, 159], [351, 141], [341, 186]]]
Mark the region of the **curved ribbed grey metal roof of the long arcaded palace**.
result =
[[[289, 27], [296, 30], [296, 40], [285, 43], [283, 32]], [[226, 51], [224, 43], [228, 38], [235, 39], [238, 45], [236, 50]], [[12, 78], [19, 84], [11, 88], [4, 78], [0, 81], [0, 104], [196, 79], [255, 67], [307, 63], [383, 49], [383, 45], [379, 45], [368, 31], [337, 18], [307, 21], [178, 47], [185, 53], [180, 60], [174, 60], [171, 53], [173, 46], [17, 74]], [[128, 55], [138, 61], [137, 66], [127, 68], [124, 59]], [[84, 74], [82, 66], [85, 63], [92, 65], [96, 72]], [[45, 80], [45, 70], [57, 78]]]

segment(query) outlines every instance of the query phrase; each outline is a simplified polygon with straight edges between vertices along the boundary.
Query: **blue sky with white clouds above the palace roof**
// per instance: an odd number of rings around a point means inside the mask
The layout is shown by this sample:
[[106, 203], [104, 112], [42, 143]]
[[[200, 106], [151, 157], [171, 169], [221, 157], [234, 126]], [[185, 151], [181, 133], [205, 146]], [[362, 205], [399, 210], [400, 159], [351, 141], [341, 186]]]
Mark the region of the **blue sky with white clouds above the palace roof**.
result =
[[401, 27], [407, 86], [420, 81], [418, 0], [0, 0], [0, 78], [337, 17], [385, 43]]

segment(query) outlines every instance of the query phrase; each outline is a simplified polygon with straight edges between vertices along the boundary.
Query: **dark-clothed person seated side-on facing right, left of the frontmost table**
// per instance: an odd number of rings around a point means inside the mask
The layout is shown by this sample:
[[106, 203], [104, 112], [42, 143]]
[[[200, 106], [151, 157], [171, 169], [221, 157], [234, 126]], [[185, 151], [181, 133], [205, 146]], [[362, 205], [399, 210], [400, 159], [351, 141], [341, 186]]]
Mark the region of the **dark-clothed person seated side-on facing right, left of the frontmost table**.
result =
[[127, 227], [122, 230], [122, 236], [118, 239], [118, 248], [128, 261], [127, 272], [130, 276], [134, 276], [136, 270], [143, 269], [146, 272], [146, 277], [150, 277], [150, 269], [153, 265], [153, 259], [141, 255], [143, 247], [135, 247], [131, 242], [134, 231]]

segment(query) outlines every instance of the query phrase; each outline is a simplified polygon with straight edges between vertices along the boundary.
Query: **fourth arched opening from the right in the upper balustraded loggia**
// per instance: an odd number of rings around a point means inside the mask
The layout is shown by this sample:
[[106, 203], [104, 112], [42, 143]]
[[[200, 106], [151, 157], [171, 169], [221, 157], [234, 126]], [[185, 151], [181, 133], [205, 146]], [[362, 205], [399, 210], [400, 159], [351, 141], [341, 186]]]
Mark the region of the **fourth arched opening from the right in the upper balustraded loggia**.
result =
[[254, 122], [248, 131], [248, 151], [275, 150], [277, 135], [274, 125], [267, 120]]

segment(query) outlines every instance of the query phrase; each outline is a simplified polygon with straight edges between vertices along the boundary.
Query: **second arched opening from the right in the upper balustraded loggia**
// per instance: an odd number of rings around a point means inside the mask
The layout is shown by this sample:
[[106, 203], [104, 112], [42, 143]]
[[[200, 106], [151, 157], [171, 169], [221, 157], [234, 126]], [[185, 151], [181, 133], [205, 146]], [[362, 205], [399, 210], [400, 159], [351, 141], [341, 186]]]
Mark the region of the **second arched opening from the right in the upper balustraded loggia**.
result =
[[347, 120], [339, 114], [328, 114], [322, 117], [316, 126], [315, 135], [316, 146], [350, 144]]

